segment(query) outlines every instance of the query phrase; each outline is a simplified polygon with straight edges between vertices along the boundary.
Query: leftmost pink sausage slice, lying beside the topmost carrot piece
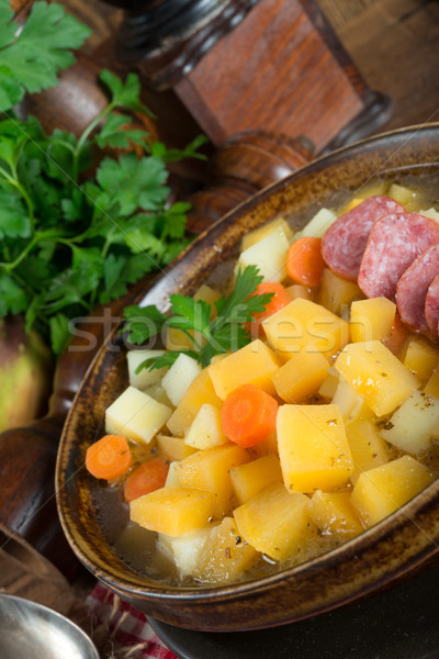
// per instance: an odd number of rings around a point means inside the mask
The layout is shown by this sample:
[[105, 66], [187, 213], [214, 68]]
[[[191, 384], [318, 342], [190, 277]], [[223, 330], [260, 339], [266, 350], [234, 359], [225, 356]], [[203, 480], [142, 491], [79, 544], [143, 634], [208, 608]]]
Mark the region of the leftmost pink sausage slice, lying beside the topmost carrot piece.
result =
[[345, 279], [357, 281], [361, 259], [374, 223], [389, 213], [404, 212], [390, 197], [369, 197], [340, 215], [325, 233], [322, 254], [326, 264]]

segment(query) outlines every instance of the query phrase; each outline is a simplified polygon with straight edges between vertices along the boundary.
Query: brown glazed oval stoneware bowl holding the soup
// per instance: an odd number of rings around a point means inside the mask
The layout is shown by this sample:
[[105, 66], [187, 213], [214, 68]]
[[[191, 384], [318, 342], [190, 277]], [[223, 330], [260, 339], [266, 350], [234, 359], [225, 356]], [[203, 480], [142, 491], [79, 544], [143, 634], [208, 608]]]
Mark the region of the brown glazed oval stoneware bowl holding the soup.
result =
[[[439, 124], [379, 135], [324, 156], [263, 190], [200, 236], [145, 292], [142, 304], [167, 308], [170, 293], [193, 293], [227, 272], [246, 232], [282, 214], [300, 226], [336, 199], [375, 179], [439, 176]], [[83, 468], [87, 447], [102, 434], [105, 407], [127, 386], [117, 330], [97, 355], [68, 415], [56, 471], [66, 536], [83, 565], [146, 614], [202, 630], [264, 628], [329, 611], [407, 579], [436, 560], [439, 480], [396, 513], [335, 550], [268, 577], [219, 588], [172, 588], [140, 574], [112, 547], [111, 512]], [[116, 524], [116, 522], [115, 522]], [[112, 526], [113, 525], [113, 526]], [[114, 528], [113, 528], [114, 532]]]

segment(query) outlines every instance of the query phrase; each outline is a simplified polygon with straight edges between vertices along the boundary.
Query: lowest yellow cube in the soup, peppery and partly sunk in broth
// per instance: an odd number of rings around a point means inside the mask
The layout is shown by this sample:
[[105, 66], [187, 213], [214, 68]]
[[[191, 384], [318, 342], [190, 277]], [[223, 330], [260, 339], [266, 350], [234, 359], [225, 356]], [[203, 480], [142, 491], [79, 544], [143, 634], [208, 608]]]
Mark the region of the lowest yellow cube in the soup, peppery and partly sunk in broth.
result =
[[200, 551], [194, 576], [201, 581], [232, 583], [255, 563], [256, 549], [238, 535], [233, 517], [211, 529]]

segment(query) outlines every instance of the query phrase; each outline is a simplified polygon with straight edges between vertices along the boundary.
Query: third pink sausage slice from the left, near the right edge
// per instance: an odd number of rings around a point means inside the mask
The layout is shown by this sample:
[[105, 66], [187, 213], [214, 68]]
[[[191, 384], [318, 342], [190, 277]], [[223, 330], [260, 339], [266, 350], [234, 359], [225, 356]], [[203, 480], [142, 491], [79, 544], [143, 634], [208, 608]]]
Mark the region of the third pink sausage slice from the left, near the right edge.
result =
[[[419, 332], [428, 332], [426, 319], [427, 291], [439, 275], [439, 244], [431, 245], [406, 269], [396, 286], [396, 305], [401, 320]], [[439, 290], [439, 289], [438, 289]], [[438, 300], [439, 302], [439, 300]], [[439, 311], [439, 305], [437, 311]], [[434, 312], [431, 310], [432, 315]], [[436, 314], [436, 326], [439, 316]]]

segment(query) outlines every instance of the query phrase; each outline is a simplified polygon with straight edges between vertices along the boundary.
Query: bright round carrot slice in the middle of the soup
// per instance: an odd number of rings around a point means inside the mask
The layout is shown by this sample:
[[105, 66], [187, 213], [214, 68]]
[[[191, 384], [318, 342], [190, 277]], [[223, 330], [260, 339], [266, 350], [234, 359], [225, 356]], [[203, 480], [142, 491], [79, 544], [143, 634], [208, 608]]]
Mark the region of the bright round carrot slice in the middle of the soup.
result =
[[226, 437], [248, 448], [268, 439], [275, 428], [278, 401], [255, 384], [241, 384], [223, 403], [221, 421]]

